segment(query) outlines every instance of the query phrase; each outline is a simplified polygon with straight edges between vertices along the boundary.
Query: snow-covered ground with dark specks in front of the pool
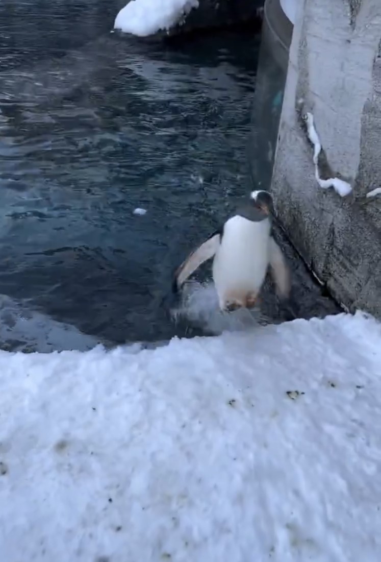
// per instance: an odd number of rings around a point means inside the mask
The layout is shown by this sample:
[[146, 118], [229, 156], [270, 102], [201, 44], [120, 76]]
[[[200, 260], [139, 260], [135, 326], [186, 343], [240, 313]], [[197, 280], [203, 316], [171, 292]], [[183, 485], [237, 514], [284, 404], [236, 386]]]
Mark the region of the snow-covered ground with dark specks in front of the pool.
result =
[[376, 562], [381, 327], [0, 352], [1, 560]]

